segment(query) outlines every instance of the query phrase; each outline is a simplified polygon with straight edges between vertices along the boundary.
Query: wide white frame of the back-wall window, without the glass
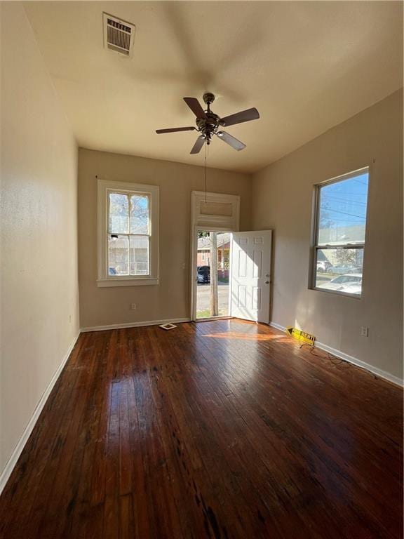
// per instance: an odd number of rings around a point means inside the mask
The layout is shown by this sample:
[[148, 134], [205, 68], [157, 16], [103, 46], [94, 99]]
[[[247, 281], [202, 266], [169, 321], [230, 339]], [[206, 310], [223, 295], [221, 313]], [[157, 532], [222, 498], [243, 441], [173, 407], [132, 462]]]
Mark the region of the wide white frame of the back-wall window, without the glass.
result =
[[[146, 194], [149, 197], [149, 275], [109, 275], [108, 195], [110, 192]], [[97, 286], [142, 286], [159, 284], [159, 187], [132, 182], [98, 180], [98, 277]]]

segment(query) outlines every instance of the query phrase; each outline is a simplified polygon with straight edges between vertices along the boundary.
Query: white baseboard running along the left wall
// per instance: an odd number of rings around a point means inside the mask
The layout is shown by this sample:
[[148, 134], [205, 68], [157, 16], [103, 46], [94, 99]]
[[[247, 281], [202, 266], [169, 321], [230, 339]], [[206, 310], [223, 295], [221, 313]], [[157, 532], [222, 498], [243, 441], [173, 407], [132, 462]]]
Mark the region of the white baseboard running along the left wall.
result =
[[31, 434], [32, 430], [34, 430], [36, 421], [39, 418], [39, 415], [41, 414], [41, 411], [43, 409], [43, 406], [45, 406], [46, 401], [48, 400], [48, 397], [50, 395], [50, 392], [53, 390], [53, 386], [55, 385], [56, 381], [58, 380], [60, 373], [63, 370], [63, 367], [65, 366], [67, 359], [69, 359], [69, 355], [72, 353], [72, 350], [74, 348], [74, 345], [77, 342], [77, 339], [79, 338], [80, 332], [76, 335], [74, 338], [72, 344], [69, 346], [69, 350], [67, 350], [65, 356], [63, 357], [62, 361], [60, 362], [60, 365], [58, 366], [55, 374], [52, 377], [52, 380], [50, 380], [48, 387], [46, 387], [45, 392], [43, 392], [43, 395], [41, 399], [39, 399], [39, 403], [36, 405], [36, 408], [34, 410], [34, 413], [32, 414], [31, 419], [29, 420], [29, 423], [27, 427], [25, 427], [25, 431], [22, 433], [22, 436], [18, 440], [18, 444], [15, 446], [15, 449], [13, 453], [11, 454], [11, 457], [8, 459], [8, 462], [6, 466], [4, 467], [3, 472], [1, 472], [0, 475], [0, 494], [3, 491], [4, 487], [7, 484], [7, 481], [9, 477], [11, 476], [11, 473], [14, 470], [15, 465], [17, 464], [18, 459], [20, 458], [20, 455], [22, 453], [22, 450], [25, 447], [25, 444], [27, 444], [29, 435]]

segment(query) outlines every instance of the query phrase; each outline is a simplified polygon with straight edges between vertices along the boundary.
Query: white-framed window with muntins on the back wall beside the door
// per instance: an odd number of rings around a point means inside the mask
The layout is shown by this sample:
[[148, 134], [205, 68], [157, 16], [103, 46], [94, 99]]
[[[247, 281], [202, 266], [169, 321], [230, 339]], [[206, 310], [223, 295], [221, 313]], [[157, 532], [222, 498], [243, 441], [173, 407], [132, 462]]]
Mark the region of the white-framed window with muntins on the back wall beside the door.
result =
[[158, 284], [159, 187], [98, 180], [98, 286]]

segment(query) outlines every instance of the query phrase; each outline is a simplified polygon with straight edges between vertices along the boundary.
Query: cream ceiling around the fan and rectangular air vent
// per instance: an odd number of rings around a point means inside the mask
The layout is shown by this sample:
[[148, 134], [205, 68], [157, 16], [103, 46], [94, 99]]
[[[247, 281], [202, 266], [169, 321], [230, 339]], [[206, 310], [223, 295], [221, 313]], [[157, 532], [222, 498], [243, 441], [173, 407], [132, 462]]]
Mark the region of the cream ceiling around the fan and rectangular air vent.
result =
[[[189, 164], [196, 133], [183, 96], [217, 95], [221, 117], [261, 118], [218, 138], [208, 166], [252, 172], [402, 86], [403, 4], [395, 1], [25, 3], [79, 145]], [[105, 51], [102, 12], [136, 25], [133, 58]]]

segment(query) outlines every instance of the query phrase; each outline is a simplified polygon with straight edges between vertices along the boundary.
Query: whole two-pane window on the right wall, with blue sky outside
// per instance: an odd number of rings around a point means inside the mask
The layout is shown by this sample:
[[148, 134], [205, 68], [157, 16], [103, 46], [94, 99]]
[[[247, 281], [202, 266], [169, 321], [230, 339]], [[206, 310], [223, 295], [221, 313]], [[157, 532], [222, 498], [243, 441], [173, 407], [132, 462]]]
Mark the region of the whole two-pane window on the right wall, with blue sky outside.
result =
[[312, 286], [362, 294], [369, 169], [315, 186]]

